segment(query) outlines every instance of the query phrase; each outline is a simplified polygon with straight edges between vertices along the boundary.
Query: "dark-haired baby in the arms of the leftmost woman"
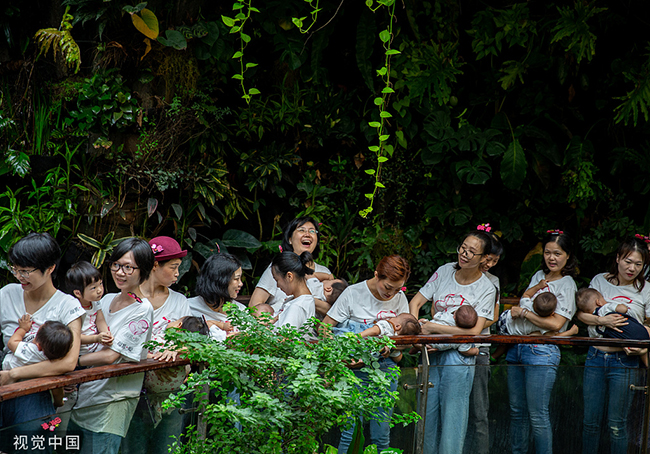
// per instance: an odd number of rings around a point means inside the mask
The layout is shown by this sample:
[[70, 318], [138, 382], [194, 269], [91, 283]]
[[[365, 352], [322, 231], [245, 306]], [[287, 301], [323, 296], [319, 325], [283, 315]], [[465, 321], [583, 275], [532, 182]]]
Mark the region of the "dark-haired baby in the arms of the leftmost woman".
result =
[[[47, 321], [41, 325], [33, 342], [23, 338], [32, 329], [32, 316], [25, 314], [18, 320], [18, 328], [7, 342], [11, 351], [2, 361], [2, 370], [53, 361], [64, 358], [72, 348], [72, 331], [57, 321]], [[63, 406], [63, 388], [53, 389], [52, 398], [56, 407]]]

